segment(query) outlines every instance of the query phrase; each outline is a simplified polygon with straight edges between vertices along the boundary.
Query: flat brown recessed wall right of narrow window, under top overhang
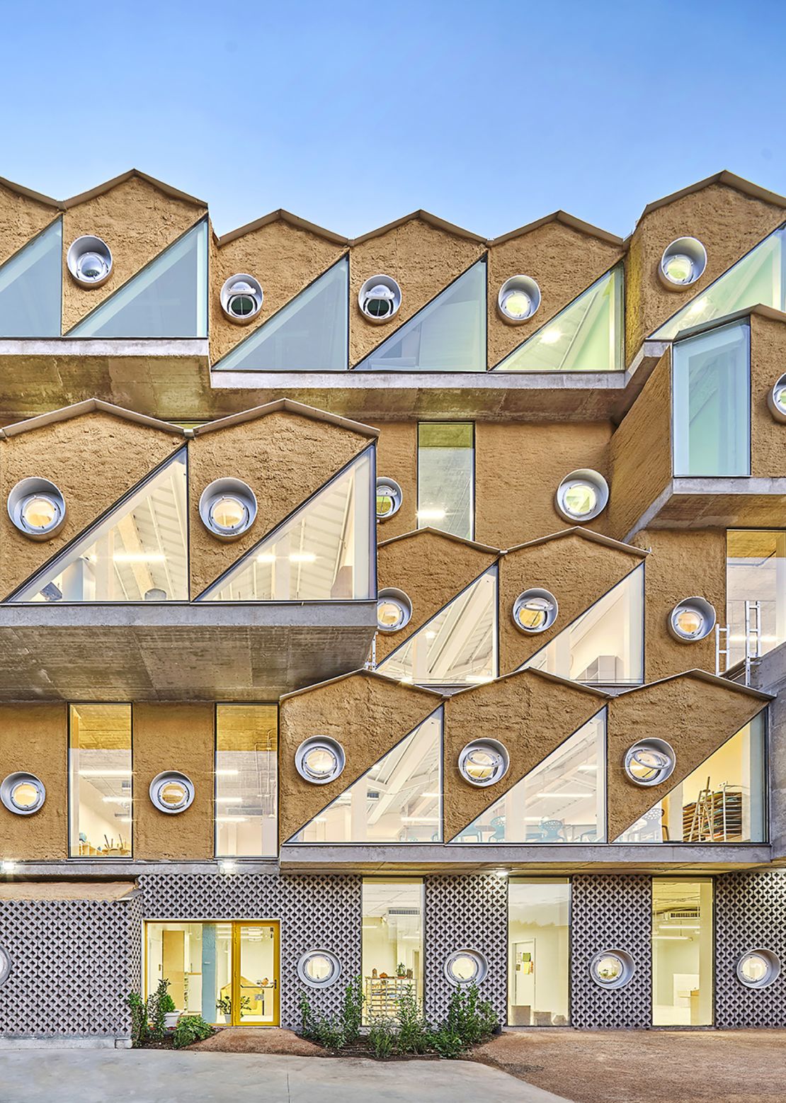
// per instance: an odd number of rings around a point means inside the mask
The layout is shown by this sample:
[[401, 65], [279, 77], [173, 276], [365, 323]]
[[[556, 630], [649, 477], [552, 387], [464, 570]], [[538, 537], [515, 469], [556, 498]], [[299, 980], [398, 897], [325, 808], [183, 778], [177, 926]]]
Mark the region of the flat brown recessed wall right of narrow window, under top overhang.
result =
[[[475, 539], [509, 548], [564, 528], [554, 508], [567, 474], [591, 468], [609, 478], [607, 421], [557, 425], [475, 424]], [[614, 489], [612, 488], [612, 500]], [[606, 532], [606, 508], [590, 522]]]

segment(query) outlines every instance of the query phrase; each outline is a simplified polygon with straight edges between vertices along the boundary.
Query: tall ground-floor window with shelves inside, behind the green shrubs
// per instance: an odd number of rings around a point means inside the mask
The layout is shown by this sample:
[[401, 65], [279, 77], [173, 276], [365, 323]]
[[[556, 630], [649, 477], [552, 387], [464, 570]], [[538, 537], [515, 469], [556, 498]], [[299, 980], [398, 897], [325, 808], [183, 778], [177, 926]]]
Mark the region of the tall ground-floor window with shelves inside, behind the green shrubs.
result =
[[423, 999], [423, 882], [363, 881], [364, 1022], [396, 1018], [399, 997]]

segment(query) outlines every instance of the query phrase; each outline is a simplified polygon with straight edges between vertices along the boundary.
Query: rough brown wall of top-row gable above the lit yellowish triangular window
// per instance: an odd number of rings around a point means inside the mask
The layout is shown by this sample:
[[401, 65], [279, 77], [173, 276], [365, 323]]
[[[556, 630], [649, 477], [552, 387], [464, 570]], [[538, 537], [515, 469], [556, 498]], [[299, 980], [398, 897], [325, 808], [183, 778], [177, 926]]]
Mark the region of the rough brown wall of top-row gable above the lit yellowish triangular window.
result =
[[[488, 366], [499, 361], [609, 271], [623, 255], [618, 245], [547, 222], [488, 249]], [[531, 276], [540, 288], [534, 318], [509, 325], [499, 317], [497, 295], [510, 276]]]

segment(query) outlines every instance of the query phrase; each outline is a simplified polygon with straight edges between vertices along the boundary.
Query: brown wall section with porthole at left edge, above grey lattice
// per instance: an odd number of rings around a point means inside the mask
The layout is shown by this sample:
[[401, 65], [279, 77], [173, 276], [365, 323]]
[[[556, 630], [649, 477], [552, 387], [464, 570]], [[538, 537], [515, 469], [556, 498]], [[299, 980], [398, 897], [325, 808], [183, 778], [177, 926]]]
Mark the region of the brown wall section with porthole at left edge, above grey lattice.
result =
[[43, 782], [39, 812], [18, 816], [0, 804], [0, 858], [68, 857], [68, 707], [0, 705], [0, 781], [25, 770]]

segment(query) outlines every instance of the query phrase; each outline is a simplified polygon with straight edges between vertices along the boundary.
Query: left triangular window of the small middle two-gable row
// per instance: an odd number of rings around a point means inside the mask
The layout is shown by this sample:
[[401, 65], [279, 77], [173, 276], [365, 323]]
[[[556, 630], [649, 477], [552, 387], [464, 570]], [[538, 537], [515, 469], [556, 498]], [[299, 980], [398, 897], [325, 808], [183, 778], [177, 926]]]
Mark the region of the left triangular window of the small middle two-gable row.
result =
[[399, 682], [463, 686], [497, 676], [497, 568], [492, 567], [377, 670]]

